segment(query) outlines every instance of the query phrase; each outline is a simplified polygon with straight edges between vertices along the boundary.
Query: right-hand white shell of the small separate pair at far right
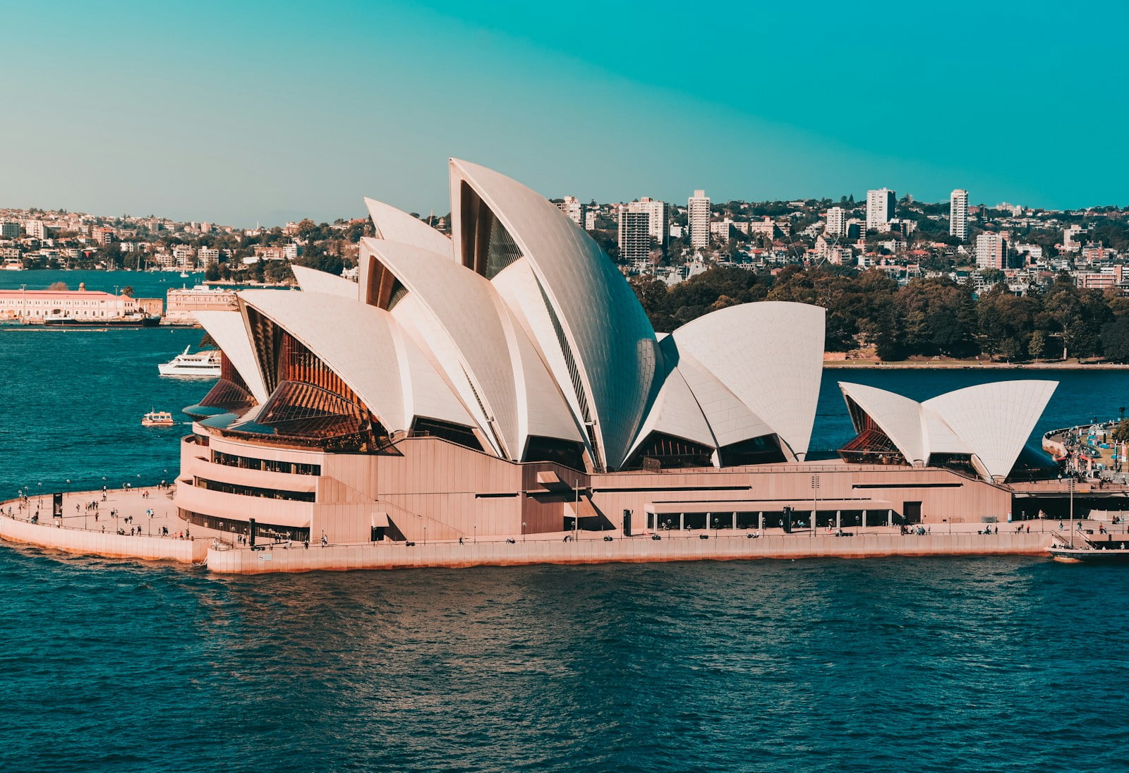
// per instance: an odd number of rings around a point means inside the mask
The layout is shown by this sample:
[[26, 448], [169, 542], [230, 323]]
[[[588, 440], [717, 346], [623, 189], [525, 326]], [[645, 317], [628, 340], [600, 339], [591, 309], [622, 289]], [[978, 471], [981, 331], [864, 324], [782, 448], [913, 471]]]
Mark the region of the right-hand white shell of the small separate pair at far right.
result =
[[1034, 379], [978, 384], [927, 399], [922, 406], [944, 419], [989, 475], [1006, 476], [1057, 386], [1058, 381]]

